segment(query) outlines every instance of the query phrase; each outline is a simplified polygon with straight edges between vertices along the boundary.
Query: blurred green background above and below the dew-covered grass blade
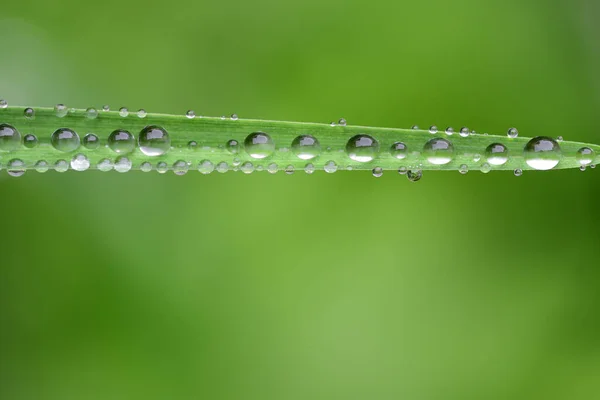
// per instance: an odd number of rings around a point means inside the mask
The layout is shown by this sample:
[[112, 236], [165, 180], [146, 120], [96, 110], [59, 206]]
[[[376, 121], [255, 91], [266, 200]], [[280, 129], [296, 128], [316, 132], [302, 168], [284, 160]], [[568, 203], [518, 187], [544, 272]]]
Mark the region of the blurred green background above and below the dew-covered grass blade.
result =
[[[599, 17], [8, 1], [0, 97], [598, 143]], [[2, 171], [0, 398], [594, 398], [598, 178]]]

